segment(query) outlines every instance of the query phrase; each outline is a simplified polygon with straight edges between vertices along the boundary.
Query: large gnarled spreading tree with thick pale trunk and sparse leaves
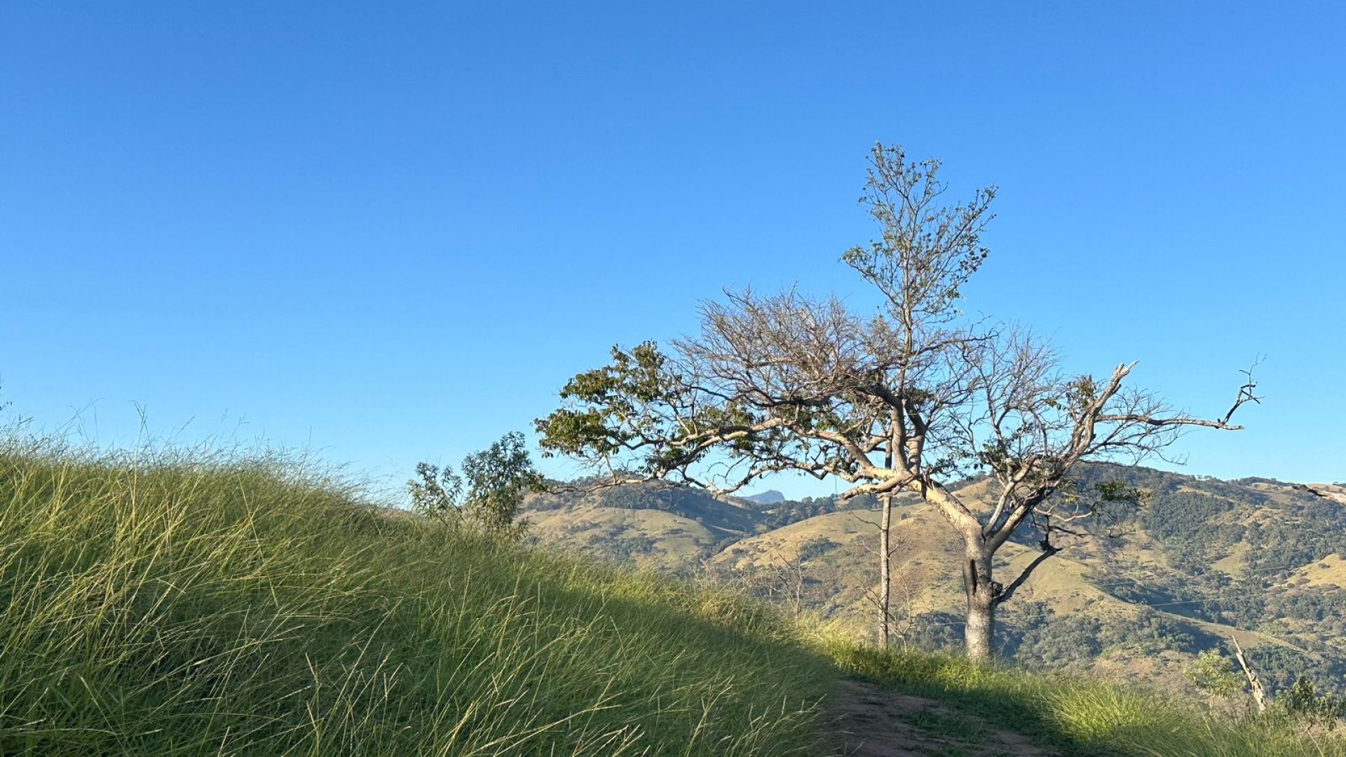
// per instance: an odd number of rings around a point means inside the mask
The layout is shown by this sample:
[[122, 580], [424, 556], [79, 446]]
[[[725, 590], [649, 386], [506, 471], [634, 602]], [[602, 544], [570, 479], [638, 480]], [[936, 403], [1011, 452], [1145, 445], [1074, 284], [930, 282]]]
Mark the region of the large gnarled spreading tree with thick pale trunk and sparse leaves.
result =
[[[880, 236], [843, 261], [878, 291], [875, 312], [797, 290], [727, 292], [701, 304], [697, 335], [668, 350], [614, 348], [611, 364], [571, 378], [537, 430], [544, 454], [588, 462], [610, 484], [728, 493], [795, 471], [847, 482], [844, 497], [918, 494], [964, 543], [966, 651], [984, 660], [995, 609], [1061, 550], [1057, 539], [1141, 497], [1120, 482], [1074, 485], [1078, 463], [1136, 462], [1190, 427], [1240, 428], [1230, 419], [1257, 397], [1249, 373], [1224, 416], [1201, 419], [1131, 388], [1135, 362], [1101, 380], [1069, 376], [1031, 330], [968, 319], [960, 288], [988, 255], [995, 189], [942, 205], [938, 170], [900, 147], [871, 152], [860, 202]], [[949, 489], [970, 475], [988, 478], [985, 501]], [[992, 558], [1027, 527], [1042, 554], [1003, 585]]]

